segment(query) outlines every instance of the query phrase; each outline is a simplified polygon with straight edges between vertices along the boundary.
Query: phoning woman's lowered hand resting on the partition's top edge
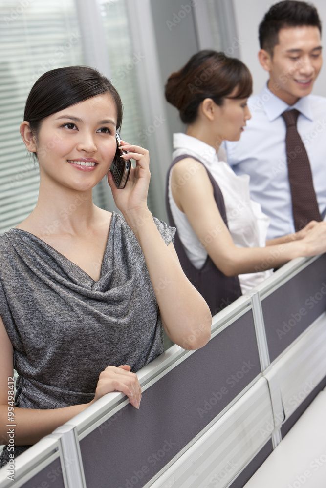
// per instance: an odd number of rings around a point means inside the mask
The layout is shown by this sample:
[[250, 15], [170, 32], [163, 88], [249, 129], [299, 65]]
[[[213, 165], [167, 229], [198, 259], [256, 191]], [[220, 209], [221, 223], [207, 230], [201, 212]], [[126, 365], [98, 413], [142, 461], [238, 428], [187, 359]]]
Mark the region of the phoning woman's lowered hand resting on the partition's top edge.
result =
[[137, 375], [130, 371], [130, 366], [106, 367], [99, 376], [94, 399], [88, 405], [112, 391], [121, 391], [128, 396], [133, 407], [139, 408], [141, 387]]

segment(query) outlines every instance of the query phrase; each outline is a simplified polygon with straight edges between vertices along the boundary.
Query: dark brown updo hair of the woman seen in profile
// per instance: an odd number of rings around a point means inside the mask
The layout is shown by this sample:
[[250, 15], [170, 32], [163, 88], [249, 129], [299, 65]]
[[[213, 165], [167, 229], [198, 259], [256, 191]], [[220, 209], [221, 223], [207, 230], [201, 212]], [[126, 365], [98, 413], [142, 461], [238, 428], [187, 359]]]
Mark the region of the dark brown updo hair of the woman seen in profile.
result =
[[224, 97], [247, 98], [252, 93], [250, 71], [243, 62], [224, 53], [205, 49], [194, 54], [183, 68], [168, 78], [165, 98], [179, 112], [182, 122], [195, 122], [198, 107], [205, 98], [223, 105]]

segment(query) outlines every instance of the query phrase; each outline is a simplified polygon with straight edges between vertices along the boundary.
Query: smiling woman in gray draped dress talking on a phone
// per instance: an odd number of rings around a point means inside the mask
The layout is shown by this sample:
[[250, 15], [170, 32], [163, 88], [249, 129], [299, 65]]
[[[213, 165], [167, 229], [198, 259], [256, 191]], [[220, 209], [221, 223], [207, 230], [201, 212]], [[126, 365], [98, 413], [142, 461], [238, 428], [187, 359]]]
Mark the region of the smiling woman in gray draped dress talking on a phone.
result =
[[[117, 91], [87, 67], [43, 74], [26, 102], [21, 135], [39, 162], [39, 199], [0, 236], [0, 436], [15, 367], [16, 455], [108, 392], [139, 408], [135, 371], [163, 352], [163, 328], [187, 349], [210, 337], [209, 309], [181, 269], [174, 229], [147, 207], [147, 150], [121, 142], [122, 159], [136, 167], [124, 189], [115, 186], [121, 122]], [[106, 175], [122, 215], [92, 202]], [[4, 448], [1, 465], [8, 459]]]

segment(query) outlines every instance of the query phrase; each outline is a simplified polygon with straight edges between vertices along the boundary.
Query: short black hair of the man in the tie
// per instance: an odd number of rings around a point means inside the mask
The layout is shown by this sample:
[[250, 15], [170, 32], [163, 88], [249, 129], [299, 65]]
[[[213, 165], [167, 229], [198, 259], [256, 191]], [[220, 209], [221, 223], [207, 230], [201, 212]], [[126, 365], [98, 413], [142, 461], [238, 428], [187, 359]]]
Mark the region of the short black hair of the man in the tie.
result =
[[261, 49], [273, 55], [279, 43], [279, 32], [286, 27], [311, 25], [322, 33], [322, 23], [316, 7], [304, 1], [286, 0], [272, 5], [259, 26]]

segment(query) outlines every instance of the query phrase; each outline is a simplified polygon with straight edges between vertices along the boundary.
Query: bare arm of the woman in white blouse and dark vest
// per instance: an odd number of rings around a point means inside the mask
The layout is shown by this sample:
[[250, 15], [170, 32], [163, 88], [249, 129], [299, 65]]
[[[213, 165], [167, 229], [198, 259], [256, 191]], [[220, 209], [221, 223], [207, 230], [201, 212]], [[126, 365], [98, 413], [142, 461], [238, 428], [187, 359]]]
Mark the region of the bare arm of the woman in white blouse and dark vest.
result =
[[[174, 165], [172, 191], [176, 204], [196, 232], [201, 245], [227, 276], [279, 267], [299, 256], [313, 256], [326, 250], [326, 223], [318, 223], [304, 239], [269, 245], [268, 247], [237, 247], [218, 211], [213, 187], [203, 165], [196, 166], [188, 179], [189, 166], [194, 160], [187, 158]], [[180, 179], [183, 184], [178, 184]], [[282, 238], [281, 238], [282, 239]]]

